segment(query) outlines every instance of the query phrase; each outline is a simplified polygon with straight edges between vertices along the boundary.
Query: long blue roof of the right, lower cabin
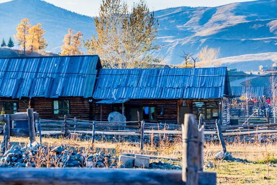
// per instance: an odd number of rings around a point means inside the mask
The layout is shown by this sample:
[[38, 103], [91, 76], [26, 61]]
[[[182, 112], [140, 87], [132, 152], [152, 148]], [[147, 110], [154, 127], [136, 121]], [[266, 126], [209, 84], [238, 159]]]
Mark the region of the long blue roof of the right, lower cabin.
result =
[[112, 94], [116, 99], [223, 98], [226, 75], [226, 67], [101, 69], [93, 98], [114, 99]]

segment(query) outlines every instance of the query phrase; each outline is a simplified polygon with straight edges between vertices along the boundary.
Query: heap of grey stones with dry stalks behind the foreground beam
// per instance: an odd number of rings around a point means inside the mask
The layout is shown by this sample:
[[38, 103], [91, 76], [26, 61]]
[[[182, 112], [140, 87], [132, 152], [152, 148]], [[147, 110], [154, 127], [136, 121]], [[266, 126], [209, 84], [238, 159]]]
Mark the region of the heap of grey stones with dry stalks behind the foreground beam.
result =
[[[1, 157], [0, 157], [1, 158]], [[36, 141], [13, 145], [0, 159], [0, 167], [117, 167], [118, 157], [104, 152], [87, 154], [67, 145], [46, 147]]]

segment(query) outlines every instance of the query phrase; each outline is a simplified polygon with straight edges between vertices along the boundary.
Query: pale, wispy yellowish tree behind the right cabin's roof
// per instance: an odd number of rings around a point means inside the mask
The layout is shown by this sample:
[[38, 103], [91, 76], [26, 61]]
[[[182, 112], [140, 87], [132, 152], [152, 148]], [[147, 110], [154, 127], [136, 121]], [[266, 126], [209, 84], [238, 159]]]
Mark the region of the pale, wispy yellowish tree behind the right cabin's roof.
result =
[[219, 67], [221, 63], [219, 60], [220, 48], [208, 48], [205, 46], [199, 52], [199, 60], [197, 67]]

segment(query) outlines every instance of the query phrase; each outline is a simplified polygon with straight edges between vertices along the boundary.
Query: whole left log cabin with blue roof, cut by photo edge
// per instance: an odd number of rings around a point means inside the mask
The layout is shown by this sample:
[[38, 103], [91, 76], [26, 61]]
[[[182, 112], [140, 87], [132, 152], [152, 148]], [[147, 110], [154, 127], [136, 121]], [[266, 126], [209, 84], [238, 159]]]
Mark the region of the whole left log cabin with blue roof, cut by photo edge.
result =
[[100, 68], [97, 55], [0, 58], [0, 109], [14, 114], [30, 107], [41, 118], [94, 119]]

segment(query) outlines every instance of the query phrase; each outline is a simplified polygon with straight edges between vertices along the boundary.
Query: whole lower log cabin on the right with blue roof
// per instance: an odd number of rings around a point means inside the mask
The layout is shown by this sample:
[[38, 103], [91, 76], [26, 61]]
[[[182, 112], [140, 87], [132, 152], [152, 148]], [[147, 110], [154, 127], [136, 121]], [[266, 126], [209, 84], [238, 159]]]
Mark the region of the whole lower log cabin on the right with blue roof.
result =
[[227, 67], [169, 69], [101, 69], [93, 99], [95, 119], [107, 121], [111, 112], [127, 121], [182, 124], [185, 114], [203, 121], [230, 123], [231, 88]]

